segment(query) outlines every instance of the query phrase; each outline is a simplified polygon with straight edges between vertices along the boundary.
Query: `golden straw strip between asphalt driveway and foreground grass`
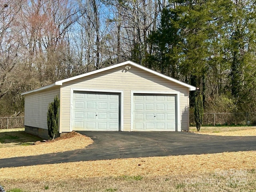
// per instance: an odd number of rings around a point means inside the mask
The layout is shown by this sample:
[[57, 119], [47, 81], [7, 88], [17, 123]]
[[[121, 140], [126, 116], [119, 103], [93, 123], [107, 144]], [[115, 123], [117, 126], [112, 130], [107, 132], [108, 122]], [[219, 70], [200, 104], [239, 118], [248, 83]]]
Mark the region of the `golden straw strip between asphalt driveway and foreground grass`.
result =
[[0, 180], [62, 180], [106, 176], [159, 176], [256, 169], [256, 152], [128, 158], [0, 168]]

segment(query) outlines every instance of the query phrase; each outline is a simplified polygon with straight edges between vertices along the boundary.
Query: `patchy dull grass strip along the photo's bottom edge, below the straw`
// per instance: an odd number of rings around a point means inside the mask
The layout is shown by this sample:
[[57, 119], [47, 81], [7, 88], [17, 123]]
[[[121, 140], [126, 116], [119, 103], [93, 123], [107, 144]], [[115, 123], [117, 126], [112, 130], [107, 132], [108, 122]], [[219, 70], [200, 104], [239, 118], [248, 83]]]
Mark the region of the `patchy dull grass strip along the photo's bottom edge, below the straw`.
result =
[[[255, 192], [254, 170], [216, 171], [214, 174], [94, 177], [66, 180], [4, 180], [6, 190], [19, 192]], [[48, 188], [46, 190], [46, 187]], [[16, 190], [18, 191], [18, 190]]]

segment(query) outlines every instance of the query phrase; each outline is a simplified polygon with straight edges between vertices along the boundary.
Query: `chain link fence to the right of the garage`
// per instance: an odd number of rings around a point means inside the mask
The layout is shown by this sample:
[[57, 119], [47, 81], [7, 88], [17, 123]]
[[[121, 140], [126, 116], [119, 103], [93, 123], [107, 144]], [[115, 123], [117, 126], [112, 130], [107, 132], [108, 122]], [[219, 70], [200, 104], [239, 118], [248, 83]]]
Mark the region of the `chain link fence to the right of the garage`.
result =
[[[190, 114], [190, 126], [195, 124], [194, 114]], [[256, 125], [256, 113], [205, 113], [203, 125]]]

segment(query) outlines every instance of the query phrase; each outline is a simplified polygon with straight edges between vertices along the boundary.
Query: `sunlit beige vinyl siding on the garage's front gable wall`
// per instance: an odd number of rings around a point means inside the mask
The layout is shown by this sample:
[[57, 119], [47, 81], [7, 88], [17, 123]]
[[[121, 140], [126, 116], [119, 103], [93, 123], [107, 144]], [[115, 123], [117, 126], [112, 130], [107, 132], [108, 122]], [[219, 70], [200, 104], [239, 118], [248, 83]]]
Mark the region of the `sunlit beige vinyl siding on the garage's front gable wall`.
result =
[[181, 128], [188, 125], [188, 88], [170, 82], [140, 68], [131, 66], [128, 71], [124, 66], [96, 73], [84, 78], [72, 80], [62, 85], [62, 131], [70, 130], [70, 88], [104, 89], [124, 91], [124, 131], [130, 131], [131, 125], [131, 90], [132, 91], [161, 91], [180, 92]]

